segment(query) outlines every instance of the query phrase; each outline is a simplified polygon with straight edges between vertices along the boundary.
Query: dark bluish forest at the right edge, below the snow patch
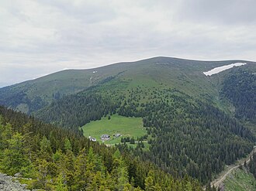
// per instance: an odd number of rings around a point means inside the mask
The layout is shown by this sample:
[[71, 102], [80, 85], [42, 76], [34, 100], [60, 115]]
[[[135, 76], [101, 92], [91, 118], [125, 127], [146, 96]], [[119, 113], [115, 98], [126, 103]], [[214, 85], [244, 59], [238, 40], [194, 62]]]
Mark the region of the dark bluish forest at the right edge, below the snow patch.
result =
[[236, 118], [256, 123], [256, 75], [247, 70], [234, 69], [223, 80], [221, 92], [236, 107]]

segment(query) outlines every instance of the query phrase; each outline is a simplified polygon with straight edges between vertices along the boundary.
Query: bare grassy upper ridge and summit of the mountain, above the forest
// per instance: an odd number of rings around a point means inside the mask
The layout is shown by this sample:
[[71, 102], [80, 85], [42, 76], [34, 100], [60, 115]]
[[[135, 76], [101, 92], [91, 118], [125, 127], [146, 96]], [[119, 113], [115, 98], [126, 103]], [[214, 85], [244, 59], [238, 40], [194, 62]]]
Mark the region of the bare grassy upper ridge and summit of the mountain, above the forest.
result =
[[[36, 80], [0, 89], [0, 104], [31, 114], [64, 95], [76, 94], [88, 87], [103, 84], [115, 78], [130, 87], [139, 84], [148, 87], [168, 86], [190, 95], [217, 96], [209, 77], [202, 72], [222, 65], [245, 62], [196, 61], [169, 57], [154, 57], [129, 63], [115, 63], [89, 70], [64, 70]], [[247, 62], [248, 63], [248, 62]]]

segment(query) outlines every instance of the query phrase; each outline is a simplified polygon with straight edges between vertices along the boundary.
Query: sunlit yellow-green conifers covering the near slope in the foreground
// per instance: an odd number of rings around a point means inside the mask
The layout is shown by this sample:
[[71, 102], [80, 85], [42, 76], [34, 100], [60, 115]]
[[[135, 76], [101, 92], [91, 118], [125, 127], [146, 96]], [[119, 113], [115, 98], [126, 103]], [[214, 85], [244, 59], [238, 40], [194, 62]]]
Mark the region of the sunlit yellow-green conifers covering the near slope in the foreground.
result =
[[202, 190], [150, 162], [25, 114], [0, 107], [0, 170], [22, 174], [29, 189]]

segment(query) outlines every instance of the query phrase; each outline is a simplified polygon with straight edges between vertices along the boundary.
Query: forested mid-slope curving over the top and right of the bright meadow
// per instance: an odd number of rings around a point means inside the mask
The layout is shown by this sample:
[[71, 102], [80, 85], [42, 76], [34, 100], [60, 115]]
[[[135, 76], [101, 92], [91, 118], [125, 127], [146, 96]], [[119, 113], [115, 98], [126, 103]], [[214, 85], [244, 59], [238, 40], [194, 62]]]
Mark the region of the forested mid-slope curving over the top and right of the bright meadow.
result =
[[[100, 101], [92, 101], [92, 107], [84, 104], [90, 97]], [[92, 118], [92, 113], [97, 113], [97, 118]], [[99, 120], [115, 113], [143, 118], [150, 151], [138, 148], [133, 152], [176, 177], [187, 172], [206, 183], [225, 164], [251, 152], [254, 145], [251, 131], [213, 107], [212, 102], [199, 101], [166, 86], [130, 87], [129, 82], [116, 79], [61, 99], [37, 116], [78, 129], [78, 121]], [[63, 123], [66, 116], [70, 119], [67, 124]]]

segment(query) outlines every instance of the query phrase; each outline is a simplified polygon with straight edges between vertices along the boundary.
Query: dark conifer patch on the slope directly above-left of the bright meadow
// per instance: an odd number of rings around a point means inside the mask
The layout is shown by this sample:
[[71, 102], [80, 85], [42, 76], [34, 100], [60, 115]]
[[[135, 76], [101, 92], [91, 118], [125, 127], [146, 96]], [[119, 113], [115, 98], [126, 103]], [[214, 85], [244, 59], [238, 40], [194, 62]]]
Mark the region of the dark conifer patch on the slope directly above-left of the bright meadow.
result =
[[77, 131], [78, 127], [90, 121], [99, 120], [107, 114], [116, 114], [117, 107], [118, 101], [90, 92], [65, 96], [35, 115], [47, 123]]

